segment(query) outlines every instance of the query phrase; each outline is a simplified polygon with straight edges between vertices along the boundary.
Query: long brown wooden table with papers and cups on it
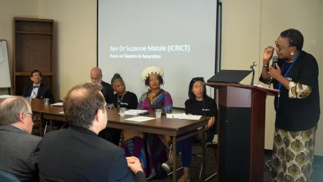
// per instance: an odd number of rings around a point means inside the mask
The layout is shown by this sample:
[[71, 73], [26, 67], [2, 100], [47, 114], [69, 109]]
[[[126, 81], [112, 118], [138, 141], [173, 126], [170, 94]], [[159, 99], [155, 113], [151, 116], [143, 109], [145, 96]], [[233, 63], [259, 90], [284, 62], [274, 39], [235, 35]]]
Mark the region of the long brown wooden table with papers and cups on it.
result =
[[[0, 103], [3, 99], [0, 99]], [[53, 120], [66, 122], [62, 106], [45, 105], [43, 99], [32, 99], [31, 102], [32, 113], [40, 118], [40, 132], [42, 133], [42, 121], [44, 119], [50, 120], [51, 130], [53, 130]], [[120, 116], [117, 109], [107, 111], [107, 127], [117, 128], [121, 130], [135, 130], [138, 132], [146, 132], [152, 134], [164, 134], [172, 137], [173, 153], [176, 153], [176, 142], [192, 137], [199, 132], [206, 130], [206, 124], [209, 120], [207, 117], [201, 117], [199, 120], [185, 120], [167, 118], [162, 115], [161, 118], [155, 118], [154, 112], [150, 112], [146, 117], [154, 119], [144, 122], [136, 122], [126, 120], [126, 118], [133, 118], [136, 116]], [[200, 128], [199, 130], [197, 130]], [[205, 177], [205, 135], [202, 134], [202, 178]], [[177, 181], [176, 176], [176, 155], [173, 155], [173, 181]]]

